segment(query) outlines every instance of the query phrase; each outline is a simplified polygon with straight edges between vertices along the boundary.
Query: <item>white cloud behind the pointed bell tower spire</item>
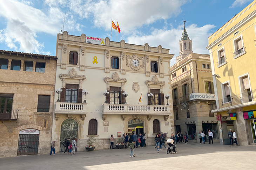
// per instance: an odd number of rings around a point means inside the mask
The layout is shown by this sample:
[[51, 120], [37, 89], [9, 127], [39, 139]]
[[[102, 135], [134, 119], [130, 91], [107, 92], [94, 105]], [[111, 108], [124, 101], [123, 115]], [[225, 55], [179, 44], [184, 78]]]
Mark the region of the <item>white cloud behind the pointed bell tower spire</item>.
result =
[[[197, 27], [196, 24], [186, 27], [189, 38], [192, 39], [192, 47], [194, 53], [209, 54], [209, 51], [205, 48], [208, 45], [208, 37], [211, 35], [211, 29], [215, 28], [215, 25], [204, 25], [203, 27]], [[157, 47], [162, 45], [163, 48], [170, 49], [170, 54], [175, 54], [175, 57], [171, 59], [171, 65], [175, 64], [175, 58], [179, 55], [178, 42], [181, 39], [183, 31], [183, 25], [177, 28], [171, 28], [169, 30], [154, 29], [150, 35], [132, 35], [127, 38], [127, 43], [144, 45], [148, 43], [149, 46]]]

